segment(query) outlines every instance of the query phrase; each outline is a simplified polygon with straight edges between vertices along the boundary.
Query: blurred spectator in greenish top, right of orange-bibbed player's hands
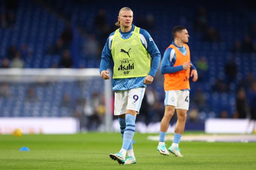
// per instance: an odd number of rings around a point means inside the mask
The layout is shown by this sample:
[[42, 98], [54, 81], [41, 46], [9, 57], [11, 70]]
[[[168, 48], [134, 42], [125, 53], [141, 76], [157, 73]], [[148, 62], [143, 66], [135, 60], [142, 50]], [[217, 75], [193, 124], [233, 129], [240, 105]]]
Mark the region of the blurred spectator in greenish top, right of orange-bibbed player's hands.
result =
[[207, 71], [208, 71], [208, 63], [206, 61], [206, 57], [200, 57], [196, 64], [197, 72], [198, 72], [198, 81], [203, 82], [208, 79]]

